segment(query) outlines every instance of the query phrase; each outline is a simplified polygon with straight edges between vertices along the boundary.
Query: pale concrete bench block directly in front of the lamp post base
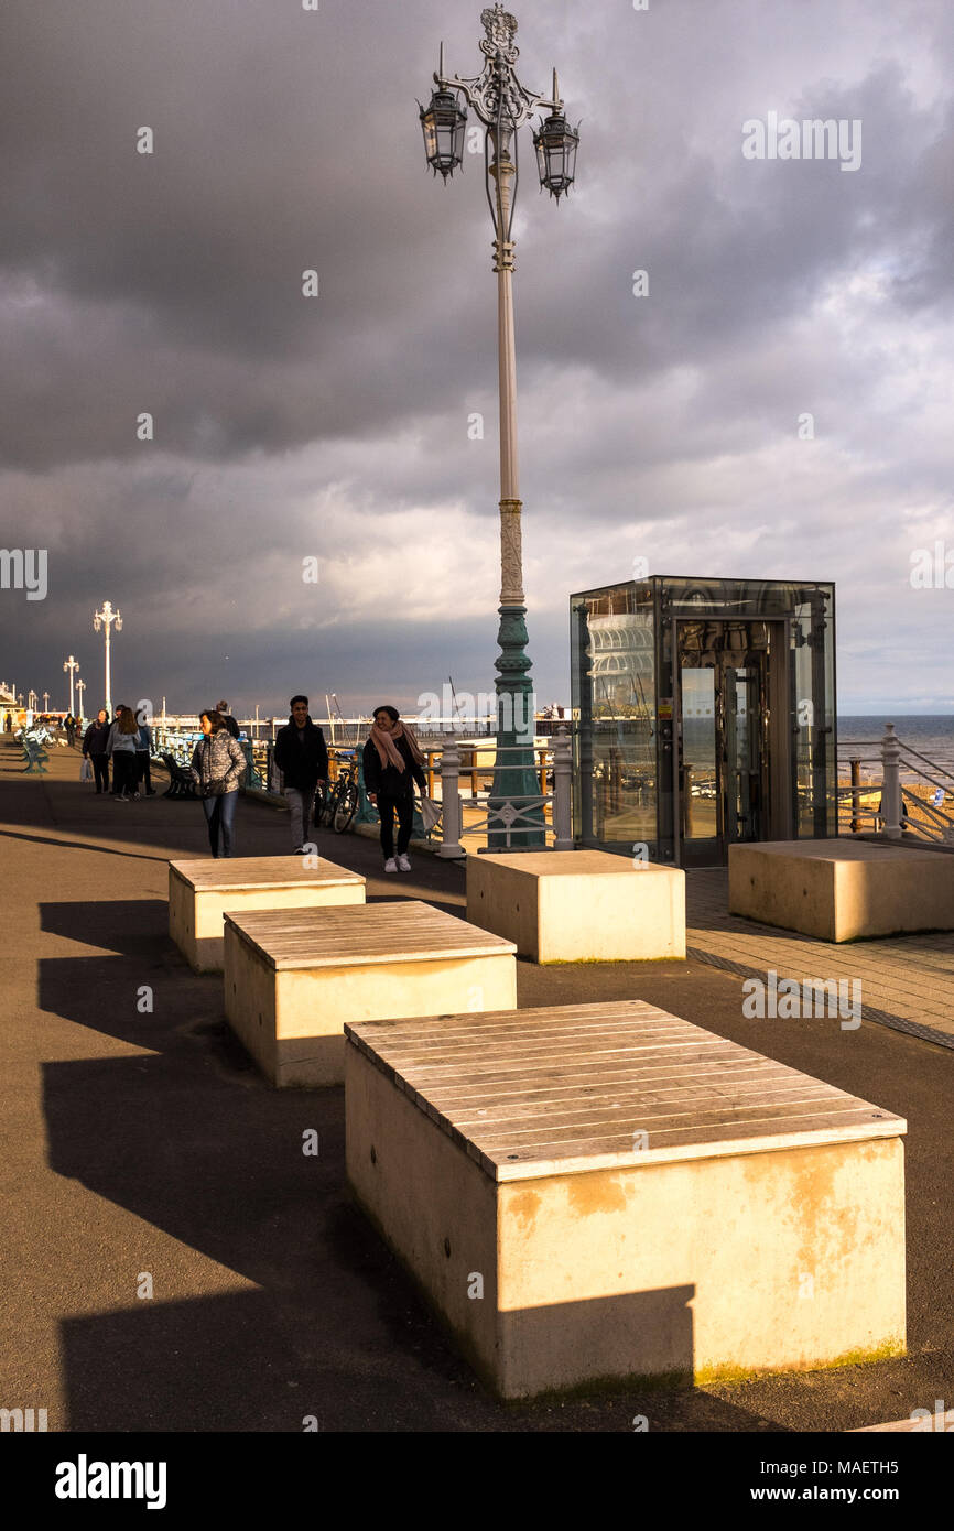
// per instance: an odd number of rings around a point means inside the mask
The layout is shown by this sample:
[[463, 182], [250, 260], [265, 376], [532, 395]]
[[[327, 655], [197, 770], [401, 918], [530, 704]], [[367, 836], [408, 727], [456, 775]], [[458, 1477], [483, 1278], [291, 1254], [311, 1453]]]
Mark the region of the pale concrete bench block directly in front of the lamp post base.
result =
[[533, 961], [686, 955], [686, 874], [609, 851], [467, 859], [467, 919]]

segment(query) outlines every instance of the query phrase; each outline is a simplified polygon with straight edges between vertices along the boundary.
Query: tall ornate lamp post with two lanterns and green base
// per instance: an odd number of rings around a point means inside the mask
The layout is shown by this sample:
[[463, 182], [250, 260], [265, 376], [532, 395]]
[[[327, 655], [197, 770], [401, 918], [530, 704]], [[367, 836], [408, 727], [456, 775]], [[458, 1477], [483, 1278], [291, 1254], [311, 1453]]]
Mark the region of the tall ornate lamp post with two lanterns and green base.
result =
[[[534, 698], [530, 680], [531, 661], [527, 655], [527, 606], [521, 545], [521, 490], [516, 447], [516, 351], [513, 335], [513, 205], [518, 188], [518, 129], [541, 106], [550, 116], [541, 121], [533, 142], [537, 155], [541, 187], [559, 202], [570, 190], [576, 173], [579, 132], [571, 129], [557, 95], [556, 69], [550, 100], [527, 90], [516, 78], [516, 18], [502, 5], [481, 11], [485, 37], [481, 38], [484, 70], [473, 80], [449, 78], [444, 73], [444, 44], [439, 67], [433, 77], [436, 89], [427, 107], [420, 107], [427, 164], [444, 181], [462, 162], [467, 112], [473, 107], [484, 124], [484, 178], [493, 217], [493, 269], [498, 276], [498, 351], [501, 409], [501, 605], [498, 643], [498, 756], [490, 795], [490, 814], [504, 828], [490, 828], [488, 850], [507, 847], [507, 825], [518, 813], [530, 825], [518, 836], [524, 848], [544, 845], [542, 811], [528, 810], [539, 799], [534, 770]], [[418, 103], [420, 106], [420, 103]], [[521, 805], [521, 807], [518, 807]], [[539, 828], [533, 825], [541, 825]]]

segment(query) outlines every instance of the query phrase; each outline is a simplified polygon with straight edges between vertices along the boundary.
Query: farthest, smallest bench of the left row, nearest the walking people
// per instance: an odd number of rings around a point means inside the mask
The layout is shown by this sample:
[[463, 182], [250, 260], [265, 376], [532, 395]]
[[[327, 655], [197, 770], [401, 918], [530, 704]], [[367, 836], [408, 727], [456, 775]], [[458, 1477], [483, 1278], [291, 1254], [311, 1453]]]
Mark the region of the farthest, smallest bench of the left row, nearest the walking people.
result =
[[168, 863], [168, 934], [196, 972], [221, 971], [222, 920], [245, 909], [364, 903], [364, 879], [303, 857], [234, 856]]

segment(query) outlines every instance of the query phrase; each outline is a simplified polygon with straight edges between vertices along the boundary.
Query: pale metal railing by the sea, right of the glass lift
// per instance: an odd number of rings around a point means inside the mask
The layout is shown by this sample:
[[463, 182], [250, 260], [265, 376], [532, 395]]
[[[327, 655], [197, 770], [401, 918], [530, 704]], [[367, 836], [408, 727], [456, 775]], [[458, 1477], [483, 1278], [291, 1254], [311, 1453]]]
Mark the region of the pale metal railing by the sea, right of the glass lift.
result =
[[[862, 753], [862, 750], [877, 753]], [[954, 845], [954, 816], [945, 811], [945, 804], [954, 805], [954, 770], [946, 764], [929, 761], [926, 755], [903, 744], [894, 733], [894, 724], [885, 723], [884, 738], [861, 739], [839, 747], [839, 756], [851, 769], [851, 781], [836, 787], [839, 830], [842, 811], [848, 811], [850, 833], [859, 834], [862, 822], [870, 821], [876, 833], [888, 841], [902, 834], [914, 834], [937, 845]], [[879, 767], [880, 781], [862, 781], [864, 769]], [[907, 779], [905, 779], [907, 778]], [[916, 790], [917, 782], [933, 788], [933, 796]], [[876, 808], [862, 807], [862, 796], [880, 792]], [[848, 808], [850, 805], [850, 808]]]

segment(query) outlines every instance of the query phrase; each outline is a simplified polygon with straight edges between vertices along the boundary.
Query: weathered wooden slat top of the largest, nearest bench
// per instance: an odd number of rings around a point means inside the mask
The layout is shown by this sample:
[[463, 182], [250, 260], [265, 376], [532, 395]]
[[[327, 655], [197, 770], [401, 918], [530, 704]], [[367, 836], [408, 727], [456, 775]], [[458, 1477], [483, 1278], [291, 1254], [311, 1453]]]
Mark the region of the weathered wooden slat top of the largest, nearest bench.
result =
[[[493, 1180], [907, 1131], [891, 1112], [642, 1000], [345, 1033]], [[646, 1134], [639, 1147], [634, 1134]]]

